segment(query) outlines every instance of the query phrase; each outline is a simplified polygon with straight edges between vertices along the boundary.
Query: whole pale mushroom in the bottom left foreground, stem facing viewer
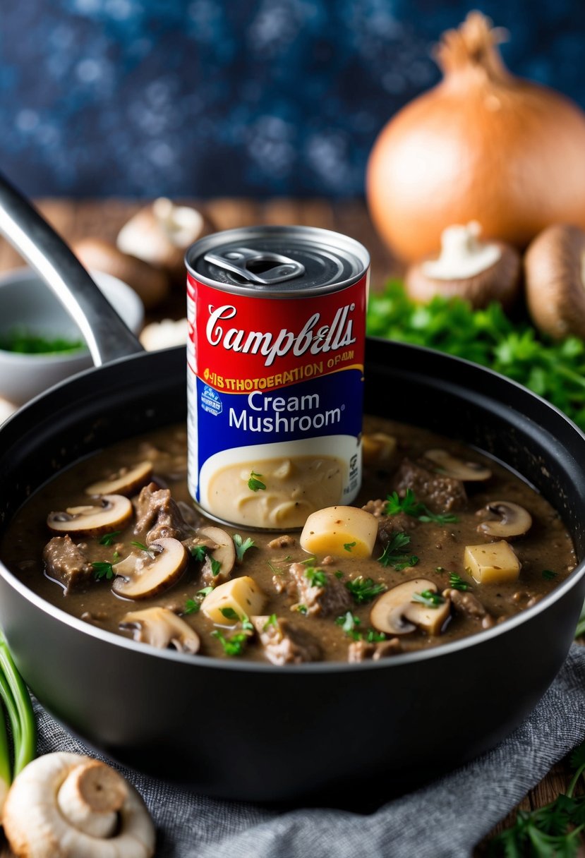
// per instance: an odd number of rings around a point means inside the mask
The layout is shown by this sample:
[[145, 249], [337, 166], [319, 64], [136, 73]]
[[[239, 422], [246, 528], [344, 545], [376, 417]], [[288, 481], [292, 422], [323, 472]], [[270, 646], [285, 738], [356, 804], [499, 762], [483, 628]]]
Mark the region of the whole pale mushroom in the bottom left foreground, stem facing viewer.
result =
[[75, 753], [45, 754], [16, 776], [3, 828], [21, 858], [154, 855], [154, 823], [136, 789], [106, 763]]

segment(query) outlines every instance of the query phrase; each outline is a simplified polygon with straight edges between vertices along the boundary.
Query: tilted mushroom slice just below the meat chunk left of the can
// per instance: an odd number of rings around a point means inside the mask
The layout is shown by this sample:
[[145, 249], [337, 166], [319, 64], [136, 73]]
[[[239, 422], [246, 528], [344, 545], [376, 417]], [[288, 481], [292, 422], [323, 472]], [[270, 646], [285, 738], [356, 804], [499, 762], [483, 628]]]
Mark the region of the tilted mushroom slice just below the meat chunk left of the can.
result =
[[183, 574], [188, 554], [184, 545], [170, 537], [151, 542], [140, 556], [129, 554], [112, 565], [118, 576], [112, 584], [124, 599], [145, 599], [168, 589]]

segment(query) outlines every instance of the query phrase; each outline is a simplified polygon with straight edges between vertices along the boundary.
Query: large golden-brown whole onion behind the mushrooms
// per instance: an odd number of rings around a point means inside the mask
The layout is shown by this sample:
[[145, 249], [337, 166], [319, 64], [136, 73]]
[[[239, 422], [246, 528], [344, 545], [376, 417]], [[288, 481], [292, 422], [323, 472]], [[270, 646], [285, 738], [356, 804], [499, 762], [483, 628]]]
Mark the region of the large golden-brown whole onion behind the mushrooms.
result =
[[471, 12], [443, 33], [443, 81], [402, 108], [371, 151], [366, 193], [378, 233], [419, 259], [443, 229], [479, 221], [524, 247], [555, 222], [585, 228], [585, 113], [505, 68], [501, 29]]

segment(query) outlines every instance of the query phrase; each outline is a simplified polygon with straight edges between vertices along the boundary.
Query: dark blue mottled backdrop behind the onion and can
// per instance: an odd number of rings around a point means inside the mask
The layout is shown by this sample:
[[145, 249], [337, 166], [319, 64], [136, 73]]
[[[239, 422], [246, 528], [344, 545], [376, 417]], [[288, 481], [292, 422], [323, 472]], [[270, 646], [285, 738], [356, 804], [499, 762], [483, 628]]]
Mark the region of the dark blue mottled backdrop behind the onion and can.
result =
[[[0, 0], [0, 157], [29, 194], [351, 196], [473, 8], [432, 0]], [[506, 63], [585, 106], [583, 0], [484, 0]]]

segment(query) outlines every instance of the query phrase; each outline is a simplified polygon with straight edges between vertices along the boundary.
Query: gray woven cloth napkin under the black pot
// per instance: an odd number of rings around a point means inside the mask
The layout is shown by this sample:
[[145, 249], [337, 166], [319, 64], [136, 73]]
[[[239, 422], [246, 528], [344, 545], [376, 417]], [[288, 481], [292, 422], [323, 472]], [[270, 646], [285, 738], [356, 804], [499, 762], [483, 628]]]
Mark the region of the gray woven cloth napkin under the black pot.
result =
[[[87, 753], [37, 707], [39, 753]], [[122, 770], [157, 826], [159, 858], [464, 858], [585, 735], [585, 647], [491, 752], [375, 813], [218, 801]]]

